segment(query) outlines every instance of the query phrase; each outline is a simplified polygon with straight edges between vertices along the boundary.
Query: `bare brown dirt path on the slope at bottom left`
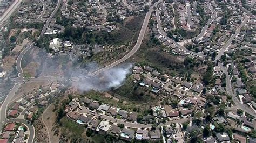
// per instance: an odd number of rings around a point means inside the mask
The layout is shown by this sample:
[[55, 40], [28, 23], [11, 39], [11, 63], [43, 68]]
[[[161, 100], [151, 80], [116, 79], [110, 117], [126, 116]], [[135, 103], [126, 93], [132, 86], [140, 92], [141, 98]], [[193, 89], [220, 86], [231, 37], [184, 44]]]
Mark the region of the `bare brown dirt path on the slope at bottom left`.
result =
[[53, 112], [54, 105], [51, 104], [44, 111], [42, 115], [42, 121], [48, 130], [49, 142], [59, 142], [59, 135], [55, 135], [55, 130], [53, 130], [53, 125], [55, 124], [56, 114]]

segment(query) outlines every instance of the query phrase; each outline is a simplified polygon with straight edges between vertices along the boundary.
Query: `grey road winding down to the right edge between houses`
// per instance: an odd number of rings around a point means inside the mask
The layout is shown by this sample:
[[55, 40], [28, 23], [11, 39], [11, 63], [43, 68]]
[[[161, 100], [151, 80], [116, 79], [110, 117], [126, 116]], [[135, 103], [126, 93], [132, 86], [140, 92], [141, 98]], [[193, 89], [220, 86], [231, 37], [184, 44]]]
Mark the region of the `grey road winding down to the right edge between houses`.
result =
[[237, 106], [237, 108], [247, 112], [248, 114], [250, 114], [250, 115], [252, 115], [254, 117], [256, 117], [256, 113], [254, 111], [252, 111], [252, 109], [250, 109], [247, 106], [245, 106], [244, 104], [242, 104], [239, 101], [239, 99], [235, 96], [235, 94], [233, 93], [232, 85], [231, 85], [231, 80], [230, 80], [230, 76], [228, 75], [227, 68], [224, 67], [220, 62], [218, 63], [218, 66], [224, 72], [224, 74], [226, 74], [226, 90], [227, 90], [227, 94], [232, 96], [232, 99], [233, 99], [235, 105]]

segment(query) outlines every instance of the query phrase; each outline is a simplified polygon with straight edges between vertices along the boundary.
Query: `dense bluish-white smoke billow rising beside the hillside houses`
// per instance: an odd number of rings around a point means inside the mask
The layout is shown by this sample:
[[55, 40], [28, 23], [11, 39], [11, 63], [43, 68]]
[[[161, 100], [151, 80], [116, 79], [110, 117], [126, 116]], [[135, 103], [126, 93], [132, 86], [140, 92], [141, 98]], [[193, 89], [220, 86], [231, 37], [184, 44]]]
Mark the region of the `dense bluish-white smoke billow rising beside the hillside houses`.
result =
[[[90, 63], [91, 65], [91, 63]], [[97, 66], [96, 66], [97, 67]], [[131, 64], [123, 64], [113, 67], [95, 77], [82, 77], [78, 81], [72, 81], [80, 91], [100, 90], [106, 91], [113, 87], [119, 87], [124, 82], [126, 75], [131, 73]]]

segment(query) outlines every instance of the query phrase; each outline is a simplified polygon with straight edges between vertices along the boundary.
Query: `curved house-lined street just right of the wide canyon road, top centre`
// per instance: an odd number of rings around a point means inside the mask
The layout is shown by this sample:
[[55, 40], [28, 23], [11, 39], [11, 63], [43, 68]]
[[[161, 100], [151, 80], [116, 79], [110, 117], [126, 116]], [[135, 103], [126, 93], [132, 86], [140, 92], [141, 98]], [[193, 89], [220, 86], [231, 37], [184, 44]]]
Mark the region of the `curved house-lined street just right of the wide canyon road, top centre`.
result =
[[204, 56], [203, 53], [196, 53], [196, 52], [192, 52], [192, 51], [189, 51], [188, 49], [186, 49], [185, 47], [181, 46], [180, 44], [178, 44], [176, 41], [174, 41], [173, 39], [169, 38], [167, 36], [167, 34], [163, 31], [163, 28], [161, 27], [161, 20], [160, 20], [160, 16], [159, 16], [159, 10], [157, 8], [156, 10], [156, 17], [157, 17], [157, 27], [158, 27], [158, 32], [163, 35], [165, 37], [165, 39], [173, 42], [178, 48], [182, 49], [183, 51], [187, 52], [187, 53], [190, 53], [192, 55], [196, 55], [196, 56]]

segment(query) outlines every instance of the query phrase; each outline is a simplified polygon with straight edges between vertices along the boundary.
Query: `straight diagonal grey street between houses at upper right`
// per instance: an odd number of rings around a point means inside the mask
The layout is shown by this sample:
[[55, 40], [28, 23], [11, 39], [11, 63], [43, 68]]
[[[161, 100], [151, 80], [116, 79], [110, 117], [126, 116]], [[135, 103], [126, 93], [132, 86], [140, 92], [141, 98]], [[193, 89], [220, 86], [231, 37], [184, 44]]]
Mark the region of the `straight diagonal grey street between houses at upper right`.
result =
[[235, 37], [237, 37], [237, 35], [240, 33], [241, 28], [248, 22], [249, 17], [245, 16], [245, 19], [242, 21], [242, 23], [239, 25], [239, 27], [237, 28], [237, 30], [235, 31], [235, 33], [230, 37], [230, 39], [227, 40], [226, 44], [220, 49], [218, 55], [215, 57], [215, 60], [219, 60], [220, 57], [224, 54], [224, 52], [226, 51], [226, 49], [228, 48], [228, 46], [230, 46], [232, 40], [234, 40]]

